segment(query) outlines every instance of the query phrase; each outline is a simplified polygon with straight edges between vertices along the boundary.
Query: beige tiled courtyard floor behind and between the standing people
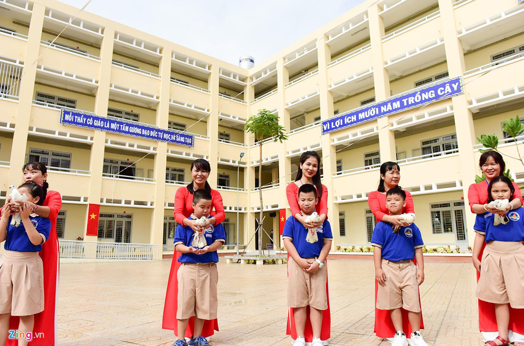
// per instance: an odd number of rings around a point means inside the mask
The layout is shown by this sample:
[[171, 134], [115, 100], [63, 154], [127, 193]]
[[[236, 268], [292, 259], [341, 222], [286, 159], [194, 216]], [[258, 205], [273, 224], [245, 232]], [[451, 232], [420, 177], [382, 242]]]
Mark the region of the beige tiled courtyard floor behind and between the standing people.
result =
[[[161, 320], [171, 260], [62, 263], [61, 345], [172, 345]], [[290, 345], [286, 265], [219, 264], [219, 327], [214, 346]], [[470, 263], [426, 263], [420, 286], [430, 345], [482, 345]], [[332, 346], [389, 345], [373, 334], [372, 261], [329, 263]]]

